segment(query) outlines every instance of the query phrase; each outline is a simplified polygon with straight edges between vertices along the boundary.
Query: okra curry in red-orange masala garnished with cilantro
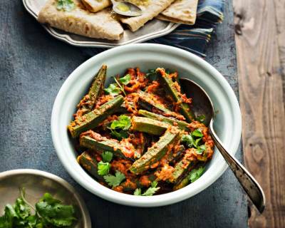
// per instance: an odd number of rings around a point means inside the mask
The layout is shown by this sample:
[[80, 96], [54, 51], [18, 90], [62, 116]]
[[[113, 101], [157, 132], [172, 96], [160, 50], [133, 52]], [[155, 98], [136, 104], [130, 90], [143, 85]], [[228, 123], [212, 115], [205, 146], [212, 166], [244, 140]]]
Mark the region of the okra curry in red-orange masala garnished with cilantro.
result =
[[105, 88], [106, 71], [100, 68], [68, 125], [79, 164], [101, 185], [131, 195], [159, 195], [197, 180], [214, 142], [177, 73], [128, 68]]

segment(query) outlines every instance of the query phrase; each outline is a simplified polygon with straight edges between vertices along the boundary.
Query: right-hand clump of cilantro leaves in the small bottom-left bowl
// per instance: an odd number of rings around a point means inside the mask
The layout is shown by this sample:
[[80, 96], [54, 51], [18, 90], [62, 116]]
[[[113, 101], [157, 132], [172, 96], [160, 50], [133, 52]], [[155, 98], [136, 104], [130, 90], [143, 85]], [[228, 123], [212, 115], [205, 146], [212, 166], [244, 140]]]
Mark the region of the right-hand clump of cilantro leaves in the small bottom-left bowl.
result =
[[49, 193], [45, 193], [36, 203], [36, 210], [42, 223], [48, 224], [49, 227], [68, 227], [76, 220], [74, 207], [61, 204], [61, 201], [53, 199]]

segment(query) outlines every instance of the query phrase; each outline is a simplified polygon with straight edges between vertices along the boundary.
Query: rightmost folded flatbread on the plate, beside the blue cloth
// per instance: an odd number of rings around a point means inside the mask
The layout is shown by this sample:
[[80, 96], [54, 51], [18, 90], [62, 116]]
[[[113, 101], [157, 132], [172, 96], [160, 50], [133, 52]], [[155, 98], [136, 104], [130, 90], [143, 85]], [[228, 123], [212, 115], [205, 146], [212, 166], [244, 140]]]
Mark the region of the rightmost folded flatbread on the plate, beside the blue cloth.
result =
[[180, 24], [195, 24], [198, 0], [176, 0], [157, 19]]

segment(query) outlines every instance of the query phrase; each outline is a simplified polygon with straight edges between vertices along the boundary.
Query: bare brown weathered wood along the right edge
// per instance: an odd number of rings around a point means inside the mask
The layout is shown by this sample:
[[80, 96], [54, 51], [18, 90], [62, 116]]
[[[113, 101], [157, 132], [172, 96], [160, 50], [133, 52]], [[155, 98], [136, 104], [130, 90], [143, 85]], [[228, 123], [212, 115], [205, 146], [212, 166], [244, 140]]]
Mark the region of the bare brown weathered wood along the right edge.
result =
[[249, 227], [285, 227], [285, 1], [234, 0], [234, 12], [244, 159], [267, 199]]

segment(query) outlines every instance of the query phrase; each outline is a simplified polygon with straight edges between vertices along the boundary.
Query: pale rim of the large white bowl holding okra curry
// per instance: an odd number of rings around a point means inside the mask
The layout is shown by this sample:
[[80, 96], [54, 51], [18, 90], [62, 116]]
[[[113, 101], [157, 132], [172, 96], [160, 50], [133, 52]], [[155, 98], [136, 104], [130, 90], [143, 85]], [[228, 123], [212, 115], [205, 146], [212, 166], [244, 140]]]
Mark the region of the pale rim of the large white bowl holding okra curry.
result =
[[[192, 185], [191, 188], [182, 188], [180, 190], [177, 190], [175, 192], [170, 192], [162, 195], [155, 195], [151, 197], [138, 197], [134, 195], [127, 195], [120, 192], [115, 192], [114, 190], [110, 190], [107, 187], [104, 187], [103, 185], [100, 185], [95, 179], [90, 177], [85, 170], [83, 170], [86, 175], [84, 177], [78, 175], [77, 172], [75, 172], [74, 167], [72, 167], [69, 162], [67, 162], [66, 157], [64, 156], [64, 153], [61, 152], [64, 150], [64, 145], [62, 145], [60, 137], [58, 137], [57, 133], [57, 125], [58, 125], [58, 116], [60, 115], [60, 107], [61, 103], [63, 103], [63, 97], [64, 94], [68, 93], [69, 86], [73, 83], [73, 81], [76, 80], [77, 75], [84, 71], [85, 68], [88, 68], [91, 63], [96, 62], [102, 58], [106, 58], [109, 55], [116, 55], [118, 53], [122, 53], [123, 51], [138, 51], [139, 49], [150, 49], [152, 51], [167, 51], [169, 53], [175, 53], [177, 56], [181, 56], [181, 58], [188, 58], [191, 59], [192, 62], [196, 63], [197, 66], [200, 68], [204, 68], [204, 70], [208, 71], [209, 74], [218, 81], [219, 85], [222, 86], [224, 91], [227, 92], [229, 100], [231, 100], [232, 106], [232, 112], [234, 113], [234, 129], [232, 138], [234, 138], [234, 142], [231, 144], [231, 152], [232, 155], [234, 155], [237, 152], [237, 149], [239, 147], [239, 142], [241, 140], [242, 135], [242, 115], [239, 109], [239, 103], [237, 101], [237, 97], [234, 94], [234, 91], [232, 90], [232, 87], [229, 86], [229, 83], [227, 80], [222, 76], [219, 71], [217, 71], [216, 68], [211, 66], [209, 63], [204, 61], [202, 58], [195, 56], [195, 54], [190, 53], [188, 51], [182, 50], [180, 48], [175, 48], [172, 46], [166, 46], [162, 44], [157, 43], [137, 43], [137, 44], [129, 44], [126, 46], [120, 46], [116, 48], [109, 49], [107, 51], [103, 51], [102, 53], [97, 54], [96, 56], [93, 56], [89, 58], [87, 61], [82, 63], [78, 68], [76, 68], [70, 76], [66, 79], [66, 81], [63, 83], [63, 86], [61, 86], [61, 89], [58, 91], [58, 95], [56, 96], [56, 100], [53, 104], [53, 110], [51, 113], [51, 136], [53, 140], [53, 145], [56, 149], [56, 153], [61, 160], [61, 163], [63, 164], [63, 167], [66, 168], [67, 172], [73, 177], [76, 182], [78, 182], [81, 186], [85, 187], [86, 190], [92, 192], [93, 194], [97, 195], [98, 197], [102, 197], [103, 199], [107, 199], [111, 202], [115, 202], [118, 204], [124, 204], [128, 206], [135, 206], [135, 207], [159, 207], [164, 206], [167, 204], [173, 204], [175, 202], [180, 202], [184, 199], [190, 198], [194, 195], [197, 195], [199, 192], [202, 192], [202, 190], [209, 187], [209, 185], [212, 185], [213, 182], [215, 182], [224, 171], [227, 169], [227, 163], [225, 160], [222, 160], [219, 167], [217, 167], [217, 172], [215, 172], [211, 177], [209, 177], [207, 180], [204, 180], [200, 185]], [[222, 155], [221, 155], [222, 156]], [[94, 180], [95, 182], [91, 183], [88, 181]], [[97, 185], [96, 185], [97, 184]]]

